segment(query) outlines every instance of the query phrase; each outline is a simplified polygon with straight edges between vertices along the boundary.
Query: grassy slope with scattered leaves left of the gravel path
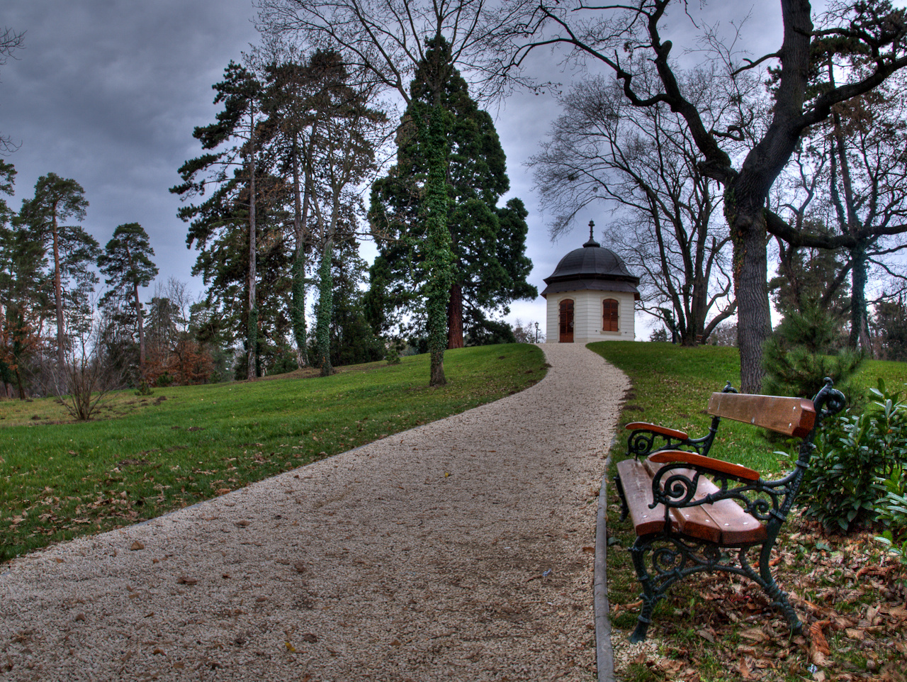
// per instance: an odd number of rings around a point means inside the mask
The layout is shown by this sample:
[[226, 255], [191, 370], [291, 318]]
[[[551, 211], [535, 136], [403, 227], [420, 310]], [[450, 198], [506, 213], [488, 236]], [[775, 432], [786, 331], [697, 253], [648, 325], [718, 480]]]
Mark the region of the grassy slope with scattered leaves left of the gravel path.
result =
[[[74, 424], [53, 399], [0, 404], [0, 560], [209, 499], [539, 381], [535, 346], [358, 365], [327, 378], [114, 396], [112, 418]], [[38, 417], [35, 419], [35, 417]]]

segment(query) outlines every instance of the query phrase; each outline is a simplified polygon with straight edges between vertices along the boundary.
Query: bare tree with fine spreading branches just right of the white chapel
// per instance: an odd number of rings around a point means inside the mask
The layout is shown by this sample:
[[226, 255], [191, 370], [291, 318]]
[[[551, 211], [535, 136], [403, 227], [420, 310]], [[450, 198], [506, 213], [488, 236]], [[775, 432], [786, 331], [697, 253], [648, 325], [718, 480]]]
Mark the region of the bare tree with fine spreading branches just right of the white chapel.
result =
[[[707, 81], [694, 74], [685, 90], [704, 99]], [[636, 109], [601, 76], [575, 85], [561, 106], [549, 141], [529, 163], [542, 205], [555, 212], [552, 237], [580, 209], [610, 204], [617, 218], [605, 234], [642, 273], [643, 309], [685, 346], [705, 343], [736, 309], [730, 239], [717, 183], [699, 172], [682, 122], [663, 105]]]

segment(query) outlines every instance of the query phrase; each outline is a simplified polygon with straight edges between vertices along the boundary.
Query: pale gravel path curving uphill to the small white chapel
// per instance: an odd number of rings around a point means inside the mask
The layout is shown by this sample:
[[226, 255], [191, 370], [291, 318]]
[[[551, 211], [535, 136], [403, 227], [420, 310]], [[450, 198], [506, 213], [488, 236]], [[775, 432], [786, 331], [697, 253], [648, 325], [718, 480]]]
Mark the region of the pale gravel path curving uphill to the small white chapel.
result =
[[596, 495], [629, 386], [539, 384], [0, 577], [3, 680], [595, 677]]

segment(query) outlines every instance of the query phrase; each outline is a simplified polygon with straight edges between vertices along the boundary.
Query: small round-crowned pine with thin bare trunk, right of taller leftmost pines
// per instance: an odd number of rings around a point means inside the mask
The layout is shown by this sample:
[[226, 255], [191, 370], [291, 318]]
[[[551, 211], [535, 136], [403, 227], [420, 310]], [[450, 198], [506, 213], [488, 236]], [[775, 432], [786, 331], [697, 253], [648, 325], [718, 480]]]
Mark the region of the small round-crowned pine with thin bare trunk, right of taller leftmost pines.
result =
[[120, 225], [113, 230], [113, 239], [107, 242], [104, 253], [98, 258], [98, 268], [109, 279], [112, 287], [101, 299], [102, 304], [117, 298], [132, 297], [135, 311], [135, 326], [139, 333], [139, 368], [145, 371], [145, 332], [142, 325], [139, 287], [147, 287], [158, 274], [158, 268], [151, 262], [154, 249], [148, 240], [148, 233], [137, 222]]

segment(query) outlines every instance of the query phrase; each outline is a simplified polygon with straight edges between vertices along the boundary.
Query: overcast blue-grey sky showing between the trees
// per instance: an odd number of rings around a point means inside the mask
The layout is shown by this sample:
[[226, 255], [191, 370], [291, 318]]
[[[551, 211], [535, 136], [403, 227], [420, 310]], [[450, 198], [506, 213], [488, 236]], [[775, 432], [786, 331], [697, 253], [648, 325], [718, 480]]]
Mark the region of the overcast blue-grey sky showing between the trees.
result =
[[[716, 4], [719, 11], [727, 5], [740, 6]], [[776, 49], [770, 38], [780, 11], [772, 4], [761, 12], [748, 31]], [[250, 0], [3, 0], [0, 22], [25, 32], [24, 49], [0, 70], [0, 133], [21, 145], [5, 156], [18, 171], [11, 206], [33, 196], [35, 181], [48, 172], [73, 178], [90, 202], [83, 227], [102, 247], [118, 225], [139, 222], [151, 237], [159, 278], [189, 282], [200, 293], [200, 280], [190, 277], [197, 252], [186, 248], [180, 201], [168, 189], [180, 181], [180, 165], [200, 154], [193, 128], [218, 111], [211, 84], [258, 42], [254, 16]], [[540, 55], [539, 62], [555, 60]], [[551, 244], [524, 166], [557, 107], [547, 96], [517, 94], [493, 113], [512, 187], [501, 203], [516, 196], [530, 210], [530, 280], [541, 291], [558, 260], [588, 239], [580, 228]], [[602, 208], [582, 223], [590, 218], [601, 240], [610, 214]], [[363, 255], [373, 254], [366, 244]], [[516, 317], [543, 330], [544, 299], [515, 302], [510, 319]], [[638, 337], [640, 331], [638, 321]]]

